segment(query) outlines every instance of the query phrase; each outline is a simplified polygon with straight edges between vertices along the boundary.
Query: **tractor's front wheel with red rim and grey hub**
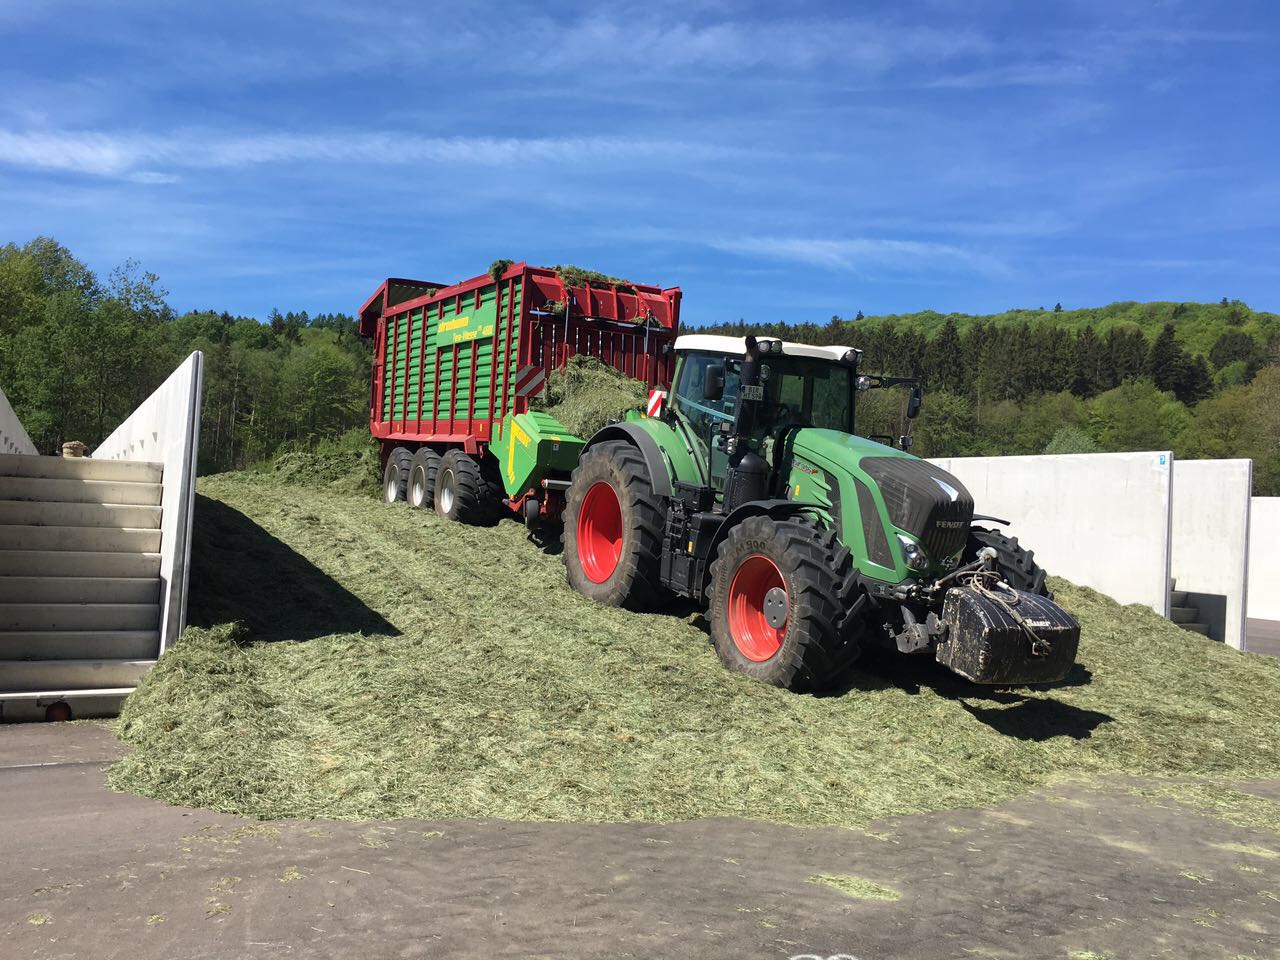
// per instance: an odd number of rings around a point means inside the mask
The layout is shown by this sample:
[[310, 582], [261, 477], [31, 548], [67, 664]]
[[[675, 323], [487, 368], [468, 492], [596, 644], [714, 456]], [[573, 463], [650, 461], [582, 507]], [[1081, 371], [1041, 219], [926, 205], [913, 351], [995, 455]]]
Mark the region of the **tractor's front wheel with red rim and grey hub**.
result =
[[730, 669], [795, 692], [836, 686], [860, 652], [852, 559], [831, 530], [748, 517], [712, 562], [709, 618]]

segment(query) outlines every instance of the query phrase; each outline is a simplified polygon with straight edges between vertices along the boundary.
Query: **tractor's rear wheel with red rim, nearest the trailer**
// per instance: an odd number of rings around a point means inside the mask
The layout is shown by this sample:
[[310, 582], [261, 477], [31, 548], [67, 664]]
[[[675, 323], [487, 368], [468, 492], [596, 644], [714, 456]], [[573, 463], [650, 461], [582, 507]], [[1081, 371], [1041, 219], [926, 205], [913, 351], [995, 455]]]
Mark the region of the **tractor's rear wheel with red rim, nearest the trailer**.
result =
[[662, 598], [662, 502], [644, 457], [623, 440], [591, 447], [564, 498], [570, 585], [609, 607], [652, 609]]

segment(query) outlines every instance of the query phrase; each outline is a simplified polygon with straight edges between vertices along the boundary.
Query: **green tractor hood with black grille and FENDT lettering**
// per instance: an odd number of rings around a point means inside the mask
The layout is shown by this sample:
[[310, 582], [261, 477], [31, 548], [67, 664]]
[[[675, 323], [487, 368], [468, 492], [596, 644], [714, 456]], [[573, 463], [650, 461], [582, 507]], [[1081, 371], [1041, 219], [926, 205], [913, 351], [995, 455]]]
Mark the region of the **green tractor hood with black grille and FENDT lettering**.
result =
[[973, 495], [941, 467], [864, 436], [813, 428], [796, 433], [792, 456], [796, 470], [823, 476], [844, 541], [855, 554], [854, 544], [864, 545], [867, 562], [884, 568], [868, 572], [895, 582], [923, 572], [908, 570], [897, 534], [923, 549], [933, 572], [954, 566], [965, 548]]

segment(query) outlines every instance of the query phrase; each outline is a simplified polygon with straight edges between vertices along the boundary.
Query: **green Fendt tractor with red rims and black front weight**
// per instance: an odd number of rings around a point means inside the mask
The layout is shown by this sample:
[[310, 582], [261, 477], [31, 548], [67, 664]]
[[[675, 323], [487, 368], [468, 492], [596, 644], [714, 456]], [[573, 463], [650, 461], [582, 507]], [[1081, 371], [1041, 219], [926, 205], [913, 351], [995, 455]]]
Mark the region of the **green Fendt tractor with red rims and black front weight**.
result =
[[[669, 399], [595, 434], [564, 506], [575, 589], [708, 608], [733, 669], [791, 690], [841, 681], [868, 644], [980, 684], [1062, 680], [1079, 625], [1015, 539], [974, 525], [955, 476], [855, 433], [860, 352], [754, 337], [676, 342]], [[1000, 521], [997, 521], [1000, 522]]]

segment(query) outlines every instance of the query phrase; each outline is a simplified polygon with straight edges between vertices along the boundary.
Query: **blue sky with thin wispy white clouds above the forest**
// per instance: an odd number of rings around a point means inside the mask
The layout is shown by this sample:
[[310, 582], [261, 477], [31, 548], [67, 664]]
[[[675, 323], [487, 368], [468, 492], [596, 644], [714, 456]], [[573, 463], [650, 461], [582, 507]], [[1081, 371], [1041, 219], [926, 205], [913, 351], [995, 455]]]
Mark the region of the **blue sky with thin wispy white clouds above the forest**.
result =
[[1280, 308], [1268, 3], [0, 0], [0, 242], [179, 310], [495, 257], [685, 320]]

